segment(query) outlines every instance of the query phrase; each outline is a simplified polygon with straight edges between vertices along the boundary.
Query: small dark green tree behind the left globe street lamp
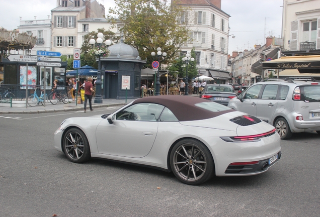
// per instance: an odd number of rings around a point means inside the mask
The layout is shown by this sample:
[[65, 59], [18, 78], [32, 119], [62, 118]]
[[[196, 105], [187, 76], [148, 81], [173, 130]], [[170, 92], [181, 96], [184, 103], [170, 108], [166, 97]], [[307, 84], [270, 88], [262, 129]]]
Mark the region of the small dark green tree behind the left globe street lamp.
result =
[[[104, 28], [98, 29], [97, 32], [92, 31], [89, 34], [85, 35], [84, 42], [81, 46], [81, 65], [90, 65], [92, 67], [98, 68], [98, 63], [96, 61], [96, 56], [90, 52], [92, 45], [89, 44], [90, 39], [97, 40], [97, 34], [101, 32], [104, 35], [103, 43], [106, 40], [111, 40], [112, 42], [119, 40], [115, 33], [105, 30]], [[94, 45], [95, 46], [95, 45]]]

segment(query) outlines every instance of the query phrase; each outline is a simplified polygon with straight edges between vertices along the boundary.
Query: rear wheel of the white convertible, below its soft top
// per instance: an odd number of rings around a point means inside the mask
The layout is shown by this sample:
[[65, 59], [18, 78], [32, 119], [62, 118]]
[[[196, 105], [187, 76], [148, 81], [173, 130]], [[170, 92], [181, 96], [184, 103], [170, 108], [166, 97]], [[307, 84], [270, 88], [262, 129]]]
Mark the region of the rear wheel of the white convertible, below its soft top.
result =
[[193, 139], [181, 140], [173, 147], [170, 165], [175, 176], [190, 185], [201, 184], [214, 174], [214, 162], [209, 149]]

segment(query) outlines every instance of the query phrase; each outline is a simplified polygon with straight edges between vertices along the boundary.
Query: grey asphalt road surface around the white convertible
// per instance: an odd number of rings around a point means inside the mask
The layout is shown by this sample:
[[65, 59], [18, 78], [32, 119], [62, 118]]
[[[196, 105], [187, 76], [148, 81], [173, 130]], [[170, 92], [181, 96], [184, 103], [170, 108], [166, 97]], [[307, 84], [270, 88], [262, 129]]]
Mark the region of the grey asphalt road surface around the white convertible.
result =
[[264, 174], [200, 186], [122, 163], [71, 163], [54, 149], [65, 118], [113, 110], [0, 115], [0, 216], [320, 216], [317, 134], [281, 141], [281, 160]]

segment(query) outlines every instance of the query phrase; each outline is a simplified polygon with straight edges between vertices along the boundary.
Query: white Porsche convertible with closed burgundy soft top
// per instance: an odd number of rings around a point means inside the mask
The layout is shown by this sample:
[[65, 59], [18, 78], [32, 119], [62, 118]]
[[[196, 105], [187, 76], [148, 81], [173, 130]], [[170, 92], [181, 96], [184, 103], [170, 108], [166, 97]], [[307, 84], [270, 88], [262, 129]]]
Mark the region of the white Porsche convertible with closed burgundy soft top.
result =
[[54, 143], [74, 163], [104, 158], [155, 167], [191, 185], [214, 175], [260, 174], [281, 157], [273, 126], [180, 95], [143, 97], [112, 114], [66, 119], [54, 133]]

